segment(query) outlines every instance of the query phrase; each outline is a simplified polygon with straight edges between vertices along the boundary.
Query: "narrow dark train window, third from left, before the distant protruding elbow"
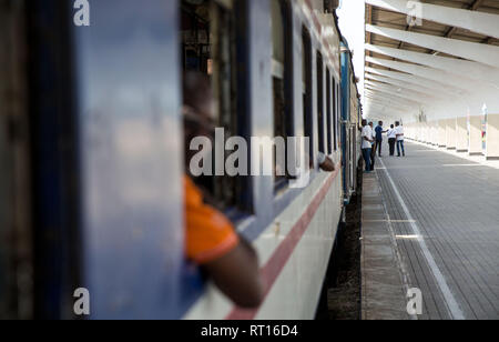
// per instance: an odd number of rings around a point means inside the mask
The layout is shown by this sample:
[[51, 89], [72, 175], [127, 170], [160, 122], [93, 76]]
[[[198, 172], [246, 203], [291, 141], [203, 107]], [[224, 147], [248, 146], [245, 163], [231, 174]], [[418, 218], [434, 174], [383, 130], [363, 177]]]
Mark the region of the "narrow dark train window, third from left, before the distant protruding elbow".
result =
[[302, 32], [302, 83], [303, 83], [303, 115], [304, 137], [309, 138], [310, 162], [314, 160], [314, 135], [313, 135], [313, 104], [312, 104], [312, 41], [310, 33], [306, 28]]

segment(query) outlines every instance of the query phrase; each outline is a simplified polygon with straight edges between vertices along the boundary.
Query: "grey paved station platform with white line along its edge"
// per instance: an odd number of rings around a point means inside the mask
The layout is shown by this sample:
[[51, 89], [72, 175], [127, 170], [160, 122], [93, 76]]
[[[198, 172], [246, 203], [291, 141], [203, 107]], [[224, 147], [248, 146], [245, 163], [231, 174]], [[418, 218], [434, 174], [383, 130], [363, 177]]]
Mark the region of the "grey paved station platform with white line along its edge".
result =
[[[364, 180], [363, 316], [499, 319], [499, 171], [418, 143], [406, 152]], [[422, 314], [409, 316], [415, 288]]]

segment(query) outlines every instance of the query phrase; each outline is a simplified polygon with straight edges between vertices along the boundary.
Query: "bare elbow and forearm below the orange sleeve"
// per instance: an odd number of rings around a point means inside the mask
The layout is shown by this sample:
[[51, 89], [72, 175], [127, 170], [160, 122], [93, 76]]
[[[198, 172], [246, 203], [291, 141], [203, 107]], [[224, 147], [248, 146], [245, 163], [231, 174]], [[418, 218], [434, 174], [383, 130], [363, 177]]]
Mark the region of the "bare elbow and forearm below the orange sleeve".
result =
[[236, 305], [255, 309], [264, 299], [258, 258], [244, 239], [227, 254], [203, 265], [215, 285]]

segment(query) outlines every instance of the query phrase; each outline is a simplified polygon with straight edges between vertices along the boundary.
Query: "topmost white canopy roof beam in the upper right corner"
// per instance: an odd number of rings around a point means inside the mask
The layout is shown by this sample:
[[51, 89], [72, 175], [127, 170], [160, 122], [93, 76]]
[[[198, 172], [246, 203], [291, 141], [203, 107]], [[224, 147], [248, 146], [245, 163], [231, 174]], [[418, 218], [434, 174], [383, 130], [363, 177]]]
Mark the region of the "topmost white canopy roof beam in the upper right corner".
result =
[[[411, 1], [408, 0], [366, 0], [366, 3], [385, 8], [390, 11], [413, 14]], [[414, 2], [414, 1], [413, 1]], [[418, 3], [421, 8], [421, 19], [435, 21], [449, 27], [457, 27], [488, 37], [499, 38], [499, 16], [472, 10]]]

